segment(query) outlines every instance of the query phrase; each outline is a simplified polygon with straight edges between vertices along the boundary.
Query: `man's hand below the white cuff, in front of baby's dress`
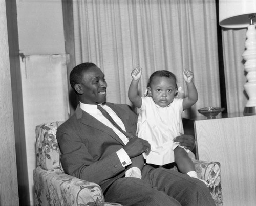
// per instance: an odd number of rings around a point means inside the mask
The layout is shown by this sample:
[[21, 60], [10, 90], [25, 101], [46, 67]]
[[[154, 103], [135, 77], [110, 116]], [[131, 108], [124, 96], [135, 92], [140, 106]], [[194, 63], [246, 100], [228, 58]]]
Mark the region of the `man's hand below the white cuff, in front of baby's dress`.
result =
[[150, 143], [135, 136], [123, 147], [123, 149], [130, 158], [136, 157], [143, 152], [148, 155], [148, 153], [150, 153]]

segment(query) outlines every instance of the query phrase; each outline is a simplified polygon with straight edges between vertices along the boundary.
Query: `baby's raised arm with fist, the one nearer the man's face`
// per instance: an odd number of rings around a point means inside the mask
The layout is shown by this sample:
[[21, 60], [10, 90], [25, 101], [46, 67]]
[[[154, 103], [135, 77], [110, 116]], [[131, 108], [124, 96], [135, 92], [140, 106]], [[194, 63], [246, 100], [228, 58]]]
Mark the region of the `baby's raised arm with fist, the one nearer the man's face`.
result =
[[141, 74], [142, 74], [142, 68], [140, 66], [137, 66], [132, 70], [131, 76], [133, 79], [131, 81], [131, 84], [128, 90], [129, 100], [137, 108], [140, 108], [142, 104], [141, 97], [138, 95], [138, 84], [141, 78]]

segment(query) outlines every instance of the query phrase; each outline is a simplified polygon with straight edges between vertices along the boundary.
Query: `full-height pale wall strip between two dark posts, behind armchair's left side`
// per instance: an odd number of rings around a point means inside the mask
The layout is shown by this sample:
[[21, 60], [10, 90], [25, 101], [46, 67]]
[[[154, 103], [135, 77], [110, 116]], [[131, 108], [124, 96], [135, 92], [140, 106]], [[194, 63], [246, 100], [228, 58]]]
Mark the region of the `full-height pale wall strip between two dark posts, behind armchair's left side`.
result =
[[[68, 83], [61, 0], [16, 0], [23, 121], [33, 205], [35, 126], [68, 118]], [[17, 137], [16, 137], [17, 138]]]

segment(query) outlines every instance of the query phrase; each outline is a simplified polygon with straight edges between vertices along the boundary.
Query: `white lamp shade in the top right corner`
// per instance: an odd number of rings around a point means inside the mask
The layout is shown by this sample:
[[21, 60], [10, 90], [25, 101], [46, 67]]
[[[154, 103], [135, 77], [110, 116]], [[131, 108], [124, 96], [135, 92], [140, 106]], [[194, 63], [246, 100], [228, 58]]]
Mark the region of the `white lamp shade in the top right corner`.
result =
[[248, 27], [249, 14], [256, 14], [256, 0], [219, 0], [219, 24], [222, 27]]

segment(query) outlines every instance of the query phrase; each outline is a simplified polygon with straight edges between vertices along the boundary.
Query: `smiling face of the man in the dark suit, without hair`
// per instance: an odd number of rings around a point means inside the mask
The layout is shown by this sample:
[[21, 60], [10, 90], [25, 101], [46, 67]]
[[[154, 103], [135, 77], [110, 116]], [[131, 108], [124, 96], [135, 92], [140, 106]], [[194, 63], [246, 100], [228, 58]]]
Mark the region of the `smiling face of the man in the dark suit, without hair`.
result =
[[106, 101], [105, 75], [98, 67], [91, 67], [83, 72], [82, 95], [80, 101], [85, 104], [98, 104]]

